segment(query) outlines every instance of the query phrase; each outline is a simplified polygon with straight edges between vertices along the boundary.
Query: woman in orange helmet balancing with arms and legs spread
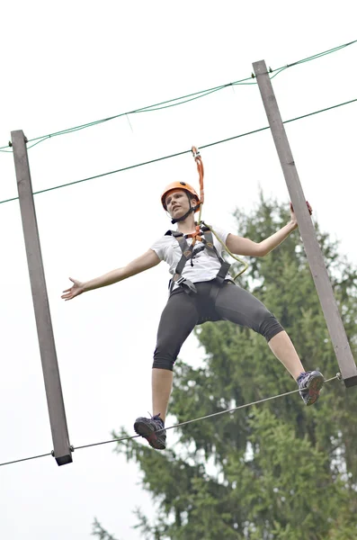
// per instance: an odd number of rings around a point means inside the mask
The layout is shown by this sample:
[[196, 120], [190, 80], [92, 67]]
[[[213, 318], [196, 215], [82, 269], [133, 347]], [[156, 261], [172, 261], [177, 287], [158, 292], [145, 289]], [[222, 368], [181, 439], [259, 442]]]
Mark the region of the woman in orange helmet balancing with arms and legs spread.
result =
[[178, 223], [177, 231], [168, 231], [141, 257], [109, 274], [86, 283], [70, 278], [73, 286], [62, 295], [64, 300], [71, 300], [78, 294], [144, 272], [162, 260], [170, 266], [173, 278], [157, 331], [152, 371], [154, 416], [136, 420], [134, 429], [138, 435], [145, 437], [153, 448], [165, 449], [165, 416], [172, 391], [174, 361], [192, 329], [207, 320], [230, 320], [262, 334], [274, 356], [297, 381], [306, 405], [315, 403], [324, 383], [323, 375], [318, 371], [305, 372], [288, 334], [272, 313], [251, 293], [233, 284], [228, 265], [221, 257], [223, 248], [219, 242], [220, 239], [233, 254], [263, 257], [297, 229], [292, 209], [289, 223], [256, 243], [223, 229], [215, 229], [219, 239], [213, 237], [209, 229], [203, 228], [198, 233], [194, 212], [200, 209], [201, 203], [192, 186], [185, 182], [169, 184], [161, 202], [173, 218], [172, 222]]

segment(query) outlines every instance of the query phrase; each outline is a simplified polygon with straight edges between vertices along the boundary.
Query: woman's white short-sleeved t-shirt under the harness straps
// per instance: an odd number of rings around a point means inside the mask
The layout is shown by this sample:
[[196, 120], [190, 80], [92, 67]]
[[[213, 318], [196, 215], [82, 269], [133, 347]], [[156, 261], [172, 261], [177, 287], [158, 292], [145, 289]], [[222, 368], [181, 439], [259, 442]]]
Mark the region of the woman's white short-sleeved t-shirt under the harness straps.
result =
[[[217, 229], [215, 227], [213, 227], [212, 229], [214, 229], [217, 236], [222, 240], [222, 242], [226, 243], [229, 233], [226, 230]], [[219, 252], [219, 256], [221, 257], [223, 252], [223, 246], [220, 244], [219, 240], [214, 235], [212, 236], [214, 246], [216, 247], [217, 251]], [[189, 246], [191, 246], [192, 238], [186, 238], [186, 242]], [[196, 247], [201, 247], [201, 245], [201, 242], [196, 241], [194, 249], [196, 249]], [[183, 255], [181, 247], [179, 246], [176, 238], [171, 235], [165, 235], [159, 238], [150, 248], [155, 251], [157, 257], [159, 257], [160, 260], [165, 261], [165, 263], [169, 265], [169, 272], [170, 274], [174, 275], [176, 266], [178, 265]], [[219, 273], [219, 259], [218, 257], [211, 257], [207, 249], [203, 249], [202, 251], [200, 251], [200, 253], [198, 253], [192, 259], [192, 264], [193, 266], [191, 265], [191, 260], [187, 261], [187, 263], [183, 267], [182, 276], [186, 279], [189, 279], [193, 284], [197, 282], [210, 281], [211, 279], [214, 279]], [[227, 275], [227, 278], [229, 278], [229, 275]]]

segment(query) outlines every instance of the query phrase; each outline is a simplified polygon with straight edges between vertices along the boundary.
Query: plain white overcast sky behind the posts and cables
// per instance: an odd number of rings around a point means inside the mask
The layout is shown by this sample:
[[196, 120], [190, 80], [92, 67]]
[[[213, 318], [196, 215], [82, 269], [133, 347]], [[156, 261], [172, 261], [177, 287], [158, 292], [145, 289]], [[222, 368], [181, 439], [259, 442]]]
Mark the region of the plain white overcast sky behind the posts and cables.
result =
[[[2, 6], [0, 146], [11, 130], [39, 135], [281, 67], [355, 40], [355, 3], [61, 2]], [[100, 5], [100, 7], [99, 7]], [[357, 97], [357, 45], [283, 71], [273, 86], [284, 120]], [[29, 151], [34, 191], [225, 139], [267, 125], [256, 85], [236, 86], [159, 112], [124, 116]], [[357, 262], [357, 103], [286, 126], [314, 216]], [[288, 201], [270, 132], [208, 148], [203, 217], [237, 232], [231, 213], [254, 207], [258, 187]], [[12, 154], [0, 153], [0, 200], [17, 195]], [[165, 265], [63, 302], [67, 277], [123, 266], [170, 227], [165, 184], [197, 185], [190, 155], [35, 197], [71, 444], [132, 432], [151, 408], [150, 372], [165, 300]], [[18, 202], [0, 204], [2, 376], [0, 463], [52, 449]], [[254, 238], [253, 238], [254, 239]], [[189, 338], [181, 356], [203, 352]], [[326, 374], [331, 376], [331, 374]], [[287, 381], [289, 381], [287, 379]], [[174, 434], [169, 432], [168, 443]], [[137, 505], [153, 513], [138, 468], [114, 445], [0, 468], [6, 540], [88, 540], [96, 516], [135, 540]]]

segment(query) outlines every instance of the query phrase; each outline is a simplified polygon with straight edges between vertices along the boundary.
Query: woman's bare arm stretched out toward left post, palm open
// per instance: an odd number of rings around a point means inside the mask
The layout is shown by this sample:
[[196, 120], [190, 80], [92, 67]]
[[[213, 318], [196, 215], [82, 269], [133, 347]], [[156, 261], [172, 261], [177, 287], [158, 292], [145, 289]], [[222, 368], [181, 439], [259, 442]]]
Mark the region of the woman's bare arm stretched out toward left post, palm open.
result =
[[157, 257], [156, 252], [152, 249], [148, 249], [146, 253], [131, 261], [127, 266], [112, 270], [112, 272], [108, 272], [108, 274], [101, 275], [100, 277], [95, 277], [88, 282], [79, 282], [70, 277], [69, 279], [73, 283], [73, 286], [66, 289], [61, 298], [66, 301], [72, 300], [72, 298], [75, 298], [78, 294], [86, 293], [87, 291], [98, 289], [99, 287], [116, 284], [123, 279], [127, 279], [127, 277], [144, 272], [145, 270], [158, 265], [160, 262], [161, 260]]

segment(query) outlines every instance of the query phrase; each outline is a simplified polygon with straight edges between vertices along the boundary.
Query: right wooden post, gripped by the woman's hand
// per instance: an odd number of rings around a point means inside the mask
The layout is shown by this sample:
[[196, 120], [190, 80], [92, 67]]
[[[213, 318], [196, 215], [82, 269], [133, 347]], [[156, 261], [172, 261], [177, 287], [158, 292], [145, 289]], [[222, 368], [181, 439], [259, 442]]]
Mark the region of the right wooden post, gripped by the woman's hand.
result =
[[263, 105], [272, 130], [281, 168], [290, 193], [290, 199], [299, 223], [299, 232], [308, 257], [311, 274], [317, 288], [318, 298], [325, 315], [327, 329], [335, 349], [338, 365], [347, 387], [357, 384], [357, 366], [349, 346], [344, 325], [338, 311], [330, 279], [317, 242], [317, 235], [308, 213], [305, 195], [299, 181], [298, 171], [290, 150], [289, 140], [281, 121], [278, 103], [272, 89], [272, 82], [264, 60], [254, 62], [254, 74], [263, 99]]

